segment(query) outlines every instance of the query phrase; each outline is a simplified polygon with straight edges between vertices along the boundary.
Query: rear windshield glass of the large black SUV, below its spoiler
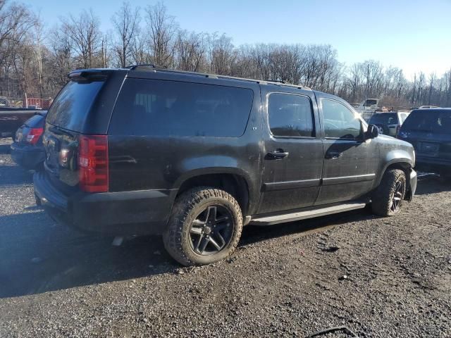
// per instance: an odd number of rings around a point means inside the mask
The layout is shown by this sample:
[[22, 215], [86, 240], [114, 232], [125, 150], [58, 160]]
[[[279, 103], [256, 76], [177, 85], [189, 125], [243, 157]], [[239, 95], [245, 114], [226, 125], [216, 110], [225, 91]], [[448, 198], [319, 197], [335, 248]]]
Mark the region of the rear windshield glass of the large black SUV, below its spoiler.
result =
[[51, 104], [47, 122], [75, 132], [82, 130], [92, 103], [103, 84], [103, 81], [69, 81]]

